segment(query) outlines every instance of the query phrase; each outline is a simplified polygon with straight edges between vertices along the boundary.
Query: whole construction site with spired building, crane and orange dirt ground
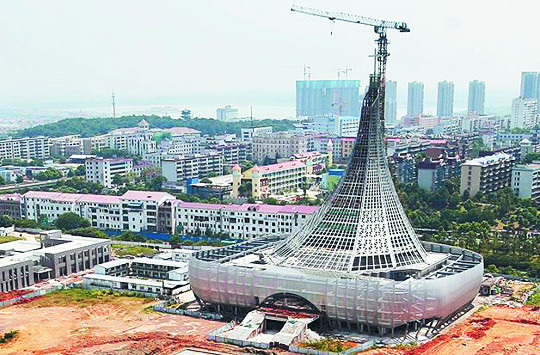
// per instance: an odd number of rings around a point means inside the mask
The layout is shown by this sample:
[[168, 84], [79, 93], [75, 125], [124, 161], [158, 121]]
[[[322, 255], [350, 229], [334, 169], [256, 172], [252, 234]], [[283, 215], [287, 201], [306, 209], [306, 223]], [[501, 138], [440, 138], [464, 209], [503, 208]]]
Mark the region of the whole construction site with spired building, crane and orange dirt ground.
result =
[[[191, 290], [161, 300], [84, 289], [84, 275], [35, 297], [0, 294], [16, 299], [0, 308], [0, 334], [12, 334], [0, 355], [539, 352], [540, 311], [523, 305], [538, 286], [484, 277], [479, 253], [420, 241], [400, 203], [384, 99], [387, 31], [409, 32], [407, 24], [293, 11], [378, 36], [351, 160], [319, 210], [286, 238], [194, 252]], [[314, 345], [325, 341], [337, 350]]]

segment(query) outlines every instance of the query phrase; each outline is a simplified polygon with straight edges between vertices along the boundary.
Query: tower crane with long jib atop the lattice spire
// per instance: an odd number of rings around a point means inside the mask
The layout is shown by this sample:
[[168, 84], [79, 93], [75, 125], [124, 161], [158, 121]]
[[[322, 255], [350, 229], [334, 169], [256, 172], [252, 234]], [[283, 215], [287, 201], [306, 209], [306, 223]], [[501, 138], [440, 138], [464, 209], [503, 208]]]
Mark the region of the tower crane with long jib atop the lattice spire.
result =
[[293, 5], [291, 11], [299, 12], [306, 15], [312, 15], [317, 17], [327, 18], [331, 21], [343, 21], [349, 23], [356, 23], [360, 25], [371, 26], [375, 30], [375, 33], [379, 35], [377, 42], [377, 50], [375, 54], [375, 72], [373, 73], [373, 80], [379, 83], [379, 99], [381, 104], [381, 112], [384, 117], [384, 94], [385, 94], [385, 79], [386, 79], [386, 62], [390, 53], [388, 52], [388, 38], [386, 37], [386, 29], [396, 29], [400, 32], [410, 32], [405, 22], [385, 21], [378, 20], [370, 17], [351, 15], [344, 12], [333, 12], [312, 9], [309, 7]]

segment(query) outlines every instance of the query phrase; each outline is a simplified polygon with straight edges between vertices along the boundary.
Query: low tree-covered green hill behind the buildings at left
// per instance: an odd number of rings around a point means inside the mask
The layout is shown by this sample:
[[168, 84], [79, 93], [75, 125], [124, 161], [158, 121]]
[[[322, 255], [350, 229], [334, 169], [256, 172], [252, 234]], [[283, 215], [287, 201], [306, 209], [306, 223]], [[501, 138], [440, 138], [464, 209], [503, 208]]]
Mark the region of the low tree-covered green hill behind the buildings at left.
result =
[[[70, 134], [80, 134], [82, 137], [92, 137], [108, 133], [116, 128], [134, 127], [142, 119], [150, 123], [151, 128], [189, 127], [203, 134], [216, 135], [224, 133], [240, 133], [241, 128], [250, 127], [248, 121], [222, 122], [209, 118], [172, 119], [159, 116], [124, 116], [119, 118], [67, 118], [54, 123], [30, 127], [14, 134], [15, 137], [61, 137]], [[272, 126], [274, 131], [286, 131], [292, 128], [290, 120], [256, 120], [254, 127]]]

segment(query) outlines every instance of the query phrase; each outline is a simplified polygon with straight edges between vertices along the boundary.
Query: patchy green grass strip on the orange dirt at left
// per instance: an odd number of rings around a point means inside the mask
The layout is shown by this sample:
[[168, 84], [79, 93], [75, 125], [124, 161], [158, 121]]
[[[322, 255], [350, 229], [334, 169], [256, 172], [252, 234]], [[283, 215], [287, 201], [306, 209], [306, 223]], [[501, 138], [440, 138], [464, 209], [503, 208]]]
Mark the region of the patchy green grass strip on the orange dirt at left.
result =
[[63, 307], [77, 305], [84, 308], [97, 303], [111, 302], [114, 299], [121, 297], [135, 297], [148, 301], [150, 300], [139, 292], [117, 292], [111, 289], [85, 289], [72, 287], [51, 292], [27, 303], [27, 305], [33, 307]]

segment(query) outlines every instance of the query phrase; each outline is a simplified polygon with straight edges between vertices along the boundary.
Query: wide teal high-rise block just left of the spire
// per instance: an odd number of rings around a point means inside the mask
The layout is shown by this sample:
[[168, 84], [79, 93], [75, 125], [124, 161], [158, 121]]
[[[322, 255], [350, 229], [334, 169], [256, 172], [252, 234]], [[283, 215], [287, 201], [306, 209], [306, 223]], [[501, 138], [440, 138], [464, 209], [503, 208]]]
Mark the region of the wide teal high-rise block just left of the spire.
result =
[[360, 115], [360, 80], [298, 80], [296, 117]]

